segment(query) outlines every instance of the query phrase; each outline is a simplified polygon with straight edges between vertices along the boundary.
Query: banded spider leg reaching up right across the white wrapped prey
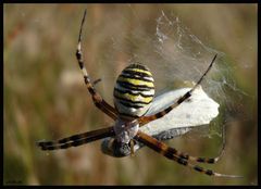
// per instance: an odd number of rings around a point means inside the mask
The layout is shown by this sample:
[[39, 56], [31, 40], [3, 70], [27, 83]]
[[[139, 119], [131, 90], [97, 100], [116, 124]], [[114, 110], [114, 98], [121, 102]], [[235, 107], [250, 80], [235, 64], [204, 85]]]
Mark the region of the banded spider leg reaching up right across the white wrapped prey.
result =
[[158, 118], [161, 118], [163, 117], [165, 114], [167, 114], [169, 112], [171, 112], [173, 109], [175, 109], [176, 106], [178, 106], [181, 103], [183, 103], [185, 100], [187, 100], [192, 91], [200, 85], [200, 83], [202, 81], [202, 79], [204, 78], [204, 76], [208, 74], [208, 72], [210, 71], [210, 68], [212, 67], [215, 59], [216, 59], [216, 55], [214, 55], [213, 60], [211, 61], [208, 70], [203, 73], [203, 75], [200, 77], [200, 79], [197, 81], [197, 84], [194, 86], [194, 88], [191, 88], [191, 90], [189, 90], [188, 92], [186, 92], [183, 97], [181, 97], [179, 99], [177, 99], [172, 105], [170, 105], [169, 108], [164, 109], [163, 111], [154, 114], [154, 115], [149, 115], [149, 116], [142, 116], [138, 119], [140, 126], [151, 122], [151, 121], [154, 121], [154, 119], [158, 119]]

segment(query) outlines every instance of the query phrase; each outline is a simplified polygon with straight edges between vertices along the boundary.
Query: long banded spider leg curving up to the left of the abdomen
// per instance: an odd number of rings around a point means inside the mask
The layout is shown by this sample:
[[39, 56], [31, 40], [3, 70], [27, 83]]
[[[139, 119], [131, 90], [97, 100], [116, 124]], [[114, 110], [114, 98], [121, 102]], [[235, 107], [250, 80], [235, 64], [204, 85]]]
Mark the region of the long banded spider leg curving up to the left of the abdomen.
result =
[[87, 70], [85, 67], [85, 64], [84, 64], [83, 52], [82, 52], [82, 30], [83, 30], [83, 26], [84, 26], [84, 22], [85, 22], [85, 16], [86, 16], [86, 10], [85, 10], [84, 17], [83, 17], [83, 21], [82, 21], [82, 24], [80, 24], [78, 46], [77, 46], [77, 50], [76, 50], [76, 58], [77, 58], [77, 61], [78, 61], [78, 65], [79, 65], [79, 68], [82, 70], [82, 72], [84, 74], [84, 81], [87, 86], [87, 89], [88, 89], [89, 93], [92, 97], [95, 105], [98, 109], [100, 109], [102, 112], [104, 112], [107, 115], [112, 117], [113, 119], [116, 119], [116, 117], [117, 117], [116, 110], [113, 106], [111, 106], [109, 103], [107, 103], [101, 98], [101, 96], [96, 91], [94, 85], [90, 81], [89, 75], [88, 75]]

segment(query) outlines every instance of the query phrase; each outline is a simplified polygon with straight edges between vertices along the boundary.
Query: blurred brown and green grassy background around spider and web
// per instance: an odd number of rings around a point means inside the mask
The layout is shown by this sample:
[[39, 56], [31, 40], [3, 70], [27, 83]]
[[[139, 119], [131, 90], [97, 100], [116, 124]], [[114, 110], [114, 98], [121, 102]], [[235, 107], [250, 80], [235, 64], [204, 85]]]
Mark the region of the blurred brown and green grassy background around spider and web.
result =
[[[91, 78], [102, 78], [98, 89], [110, 103], [116, 75], [146, 46], [130, 30], [153, 38], [162, 11], [177, 15], [194, 35], [226, 54], [229, 75], [244, 94], [229, 94], [237, 111], [227, 122], [225, 154], [217, 164], [203, 166], [244, 178], [210, 178], [146, 148], [134, 158], [113, 159], [101, 153], [99, 141], [55, 152], [36, 147], [41, 139], [112, 124], [92, 104], [75, 59], [86, 8], [86, 66]], [[4, 4], [3, 11], [4, 185], [257, 185], [257, 4]], [[221, 146], [214, 139], [185, 137], [172, 146], [214, 156]]]

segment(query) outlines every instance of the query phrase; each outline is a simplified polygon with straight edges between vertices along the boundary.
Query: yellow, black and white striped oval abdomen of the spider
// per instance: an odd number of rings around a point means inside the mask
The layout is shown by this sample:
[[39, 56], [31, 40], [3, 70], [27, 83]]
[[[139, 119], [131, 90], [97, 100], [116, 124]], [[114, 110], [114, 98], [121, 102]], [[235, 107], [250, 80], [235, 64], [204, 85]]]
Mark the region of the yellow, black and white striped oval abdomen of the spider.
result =
[[135, 118], [144, 115], [154, 97], [154, 84], [149, 68], [130, 64], [117, 77], [114, 104], [120, 116]]

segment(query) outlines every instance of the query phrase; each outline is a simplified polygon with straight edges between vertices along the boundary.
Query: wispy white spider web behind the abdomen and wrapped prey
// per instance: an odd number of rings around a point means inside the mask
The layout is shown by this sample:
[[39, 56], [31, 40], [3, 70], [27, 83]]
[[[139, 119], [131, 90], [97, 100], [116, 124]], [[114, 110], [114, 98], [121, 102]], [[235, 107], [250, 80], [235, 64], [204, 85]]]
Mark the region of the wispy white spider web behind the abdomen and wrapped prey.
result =
[[[129, 8], [132, 9], [132, 7]], [[139, 13], [133, 9], [132, 13], [132, 16], [136, 17], [138, 22]], [[219, 116], [224, 117], [222, 117], [222, 123], [219, 123], [220, 121], [212, 122], [211, 127], [209, 127], [210, 130], [204, 129], [202, 131], [200, 129], [198, 135], [207, 137], [217, 135], [221, 137], [221, 126], [231, 121], [234, 113], [240, 112], [243, 104], [238, 102], [240, 102], [243, 96], [248, 96], [237, 87], [233, 78], [235, 67], [227, 63], [225, 52], [200, 40], [174, 13], [165, 13], [161, 10], [154, 20], [149, 20], [153, 25], [150, 29], [146, 29], [140, 23], [136, 23], [137, 27], [129, 26], [128, 35], [125, 33], [109, 35], [108, 43], [111, 43], [112, 53], [104, 54], [101, 64], [110, 65], [116, 62], [127, 65], [133, 62], [140, 62], [148, 65], [156, 80], [157, 94], [160, 94], [175, 88], [191, 87], [192, 81], [196, 83], [200, 78], [213, 56], [217, 54], [213, 67], [201, 86], [221, 105]], [[127, 17], [125, 17], [125, 22], [130, 25]], [[113, 25], [113, 30], [121, 29]], [[127, 61], [116, 60], [115, 55], [112, 55], [115, 52], [119, 56], [126, 56]], [[121, 70], [117, 71], [115, 77], [105, 73], [102, 74], [101, 79], [107, 80], [107, 84], [101, 85], [101, 92], [105, 90], [105, 86], [115, 84], [119, 72]], [[112, 91], [109, 93], [111, 96]], [[110, 96], [105, 94], [105, 98], [112, 102]]]

